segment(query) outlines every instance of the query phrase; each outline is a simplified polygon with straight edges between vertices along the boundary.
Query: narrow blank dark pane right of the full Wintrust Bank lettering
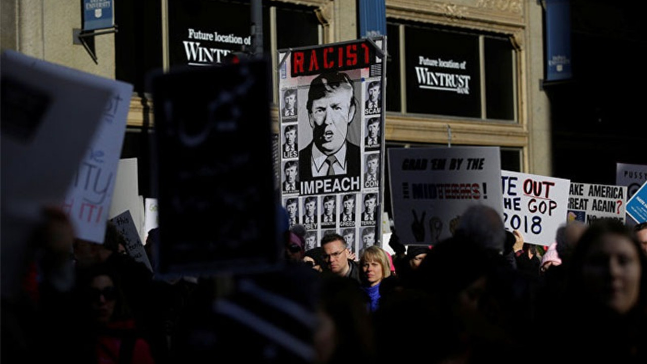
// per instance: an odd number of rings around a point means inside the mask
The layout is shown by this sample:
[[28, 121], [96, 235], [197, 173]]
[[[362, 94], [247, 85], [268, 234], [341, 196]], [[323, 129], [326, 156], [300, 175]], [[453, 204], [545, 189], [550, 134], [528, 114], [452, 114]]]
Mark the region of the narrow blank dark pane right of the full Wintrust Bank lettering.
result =
[[485, 37], [484, 43], [486, 117], [514, 120], [514, 49], [509, 40]]

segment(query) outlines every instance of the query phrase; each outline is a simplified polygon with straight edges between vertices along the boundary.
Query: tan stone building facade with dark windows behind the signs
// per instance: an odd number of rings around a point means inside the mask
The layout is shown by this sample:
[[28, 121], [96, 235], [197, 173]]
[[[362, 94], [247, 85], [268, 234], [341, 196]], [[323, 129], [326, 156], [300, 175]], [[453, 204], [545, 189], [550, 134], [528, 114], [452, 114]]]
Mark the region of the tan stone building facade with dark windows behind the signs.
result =
[[[1, 4], [3, 49], [135, 85], [122, 157], [140, 160], [145, 196], [154, 122], [146, 73], [249, 51], [250, 23], [259, 19], [243, 0], [115, 1], [117, 32], [89, 37], [95, 62], [74, 36], [82, 28], [78, 0]], [[386, 0], [387, 148], [500, 146], [503, 169], [551, 176], [542, 12], [536, 1]], [[263, 1], [261, 14], [274, 70], [278, 49], [358, 37], [357, 0]], [[276, 72], [273, 78], [278, 133]]]

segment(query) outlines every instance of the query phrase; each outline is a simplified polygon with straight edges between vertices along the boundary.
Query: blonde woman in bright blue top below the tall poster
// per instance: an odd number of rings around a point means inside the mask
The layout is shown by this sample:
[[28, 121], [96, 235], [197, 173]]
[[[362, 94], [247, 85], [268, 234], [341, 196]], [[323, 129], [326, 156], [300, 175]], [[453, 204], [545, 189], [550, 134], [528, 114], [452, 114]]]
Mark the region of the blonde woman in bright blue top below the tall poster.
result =
[[372, 245], [367, 247], [360, 257], [362, 267], [362, 290], [370, 299], [371, 312], [375, 312], [380, 301], [380, 283], [391, 275], [391, 264], [386, 251]]

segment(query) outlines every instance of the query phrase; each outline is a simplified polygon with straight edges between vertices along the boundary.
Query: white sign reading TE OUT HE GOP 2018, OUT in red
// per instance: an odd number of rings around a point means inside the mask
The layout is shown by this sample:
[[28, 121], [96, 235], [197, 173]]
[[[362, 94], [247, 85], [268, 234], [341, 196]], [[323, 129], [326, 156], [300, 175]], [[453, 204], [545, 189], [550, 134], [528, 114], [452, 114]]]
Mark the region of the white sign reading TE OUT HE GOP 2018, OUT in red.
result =
[[553, 244], [566, 222], [570, 184], [568, 179], [502, 170], [505, 228], [520, 231], [529, 244]]

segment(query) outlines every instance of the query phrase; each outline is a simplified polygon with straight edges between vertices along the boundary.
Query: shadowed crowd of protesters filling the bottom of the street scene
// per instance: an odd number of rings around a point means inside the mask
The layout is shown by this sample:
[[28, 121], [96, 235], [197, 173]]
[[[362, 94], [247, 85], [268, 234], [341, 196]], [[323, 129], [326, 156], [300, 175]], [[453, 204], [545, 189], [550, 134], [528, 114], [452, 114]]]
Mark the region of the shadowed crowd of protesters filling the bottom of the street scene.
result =
[[647, 362], [647, 223], [565, 223], [538, 249], [477, 205], [437, 244], [394, 232], [391, 255], [337, 233], [311, 247], [286, 218], [276, 271], [159, 279], [114, 225], [93, 244], [45, 217], [3, 295], [8, 362]]

